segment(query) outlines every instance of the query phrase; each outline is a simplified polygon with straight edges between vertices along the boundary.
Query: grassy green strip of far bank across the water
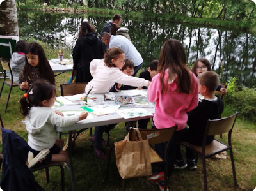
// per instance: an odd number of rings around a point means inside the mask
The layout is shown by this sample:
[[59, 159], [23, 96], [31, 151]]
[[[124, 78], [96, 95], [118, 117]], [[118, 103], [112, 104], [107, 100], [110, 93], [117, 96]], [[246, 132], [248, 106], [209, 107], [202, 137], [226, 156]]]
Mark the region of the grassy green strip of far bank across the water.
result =
[[113, 17], [116, 13], [127, 18], [156, 18], [157, 20], [166, 20], [170, 22], [186, 23], [193, 26], [203, 26], [203, 27], [225, 27], [228, 29], [240, 29], [245, 31], [250, 31], [251, 33], [256, 33], [256, 24], [253, 22], [244, 21], [228, 21], [228, 20], [215, 20], [211, 18], [191, 18], [191, 17], [181, 17], [179, 15], [168, 15], [168, 14], [156, 14], [149, 12], [134, 12], [134, 11], [122, 11], [122, 10], [105, 10], [97, 8], [88, 8], [86, 6], [79, 6], [77, 8], [58, 8], [54, 6], [43, 7], [38, 6], [38, 8], [30, 6], [17, 6], [17, 10], [37, 10], [44, 11], [45, 13], [76, 13], [76, 14], [97, 14], [109, 17]]

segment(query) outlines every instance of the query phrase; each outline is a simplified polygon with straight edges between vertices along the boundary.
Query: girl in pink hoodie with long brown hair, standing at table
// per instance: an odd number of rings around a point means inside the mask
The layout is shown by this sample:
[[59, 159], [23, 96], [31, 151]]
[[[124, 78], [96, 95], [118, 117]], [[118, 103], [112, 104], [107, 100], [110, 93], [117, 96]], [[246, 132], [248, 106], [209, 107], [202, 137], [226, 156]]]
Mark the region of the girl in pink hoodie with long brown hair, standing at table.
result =
[[[156, 102], [152, 128], [163, 129], [178, 125], [168, 152], [168, 177], [170, 177], [175, 159], [175, 143], [182, 137], [182, 130], [186, 128], [187, 112], [198, 105], [198, 84], [197, 78], [186, 66], [186, 54], [178, 40], [165, 41], [159, 56], [157, 72], [147, 92], [148, 101]], [[164, 146], [165, 144], [155, 146], [162, 158], [164, 158]], [[186, 167], [186, 165], [182, 166]], [[160, 172], [150, 177], [150, 181], [156, 182], [160, 189], [163, 189], [162, 175], [163, 172]]]

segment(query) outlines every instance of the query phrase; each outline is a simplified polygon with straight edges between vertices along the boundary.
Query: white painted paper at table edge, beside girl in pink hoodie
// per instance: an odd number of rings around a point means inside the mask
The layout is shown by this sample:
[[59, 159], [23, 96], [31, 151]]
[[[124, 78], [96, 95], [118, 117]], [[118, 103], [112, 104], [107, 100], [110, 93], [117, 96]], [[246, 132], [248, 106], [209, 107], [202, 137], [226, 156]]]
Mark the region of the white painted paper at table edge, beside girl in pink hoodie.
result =
[[154, 116], [144, 108], [129, 108], [124, 110], [118, 110], [117, 114], [121, 115], [124, 119], [131, 119], [136, 117]]

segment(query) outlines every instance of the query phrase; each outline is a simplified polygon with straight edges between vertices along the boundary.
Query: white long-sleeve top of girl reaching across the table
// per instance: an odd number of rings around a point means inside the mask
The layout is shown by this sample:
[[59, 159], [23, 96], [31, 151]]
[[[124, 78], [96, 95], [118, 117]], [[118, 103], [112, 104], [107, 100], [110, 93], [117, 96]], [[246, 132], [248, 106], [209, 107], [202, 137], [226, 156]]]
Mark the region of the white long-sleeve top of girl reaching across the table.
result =
[[93, 79], [86, 85], [85, 92], [93, 86], [90, 94], [102, 94], [109, 92], [115, 83], [134, 87], [147, 87], [148, 80], [128, 76], [116, 67], [105, 66], [104, 59], [93, 59], [90, 63], [90, 73]]

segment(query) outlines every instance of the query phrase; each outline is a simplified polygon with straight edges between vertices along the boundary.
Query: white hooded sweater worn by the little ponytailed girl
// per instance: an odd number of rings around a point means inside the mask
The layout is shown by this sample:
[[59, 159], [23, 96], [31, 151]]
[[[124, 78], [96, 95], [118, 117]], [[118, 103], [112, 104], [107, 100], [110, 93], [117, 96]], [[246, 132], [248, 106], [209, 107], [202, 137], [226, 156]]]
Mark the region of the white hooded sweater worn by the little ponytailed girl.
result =
[[76, 124], [79, 117], [57, 115], [51, 107], [32, 107], [25, 121], [28, 131], [28, 145], [36, 150], [51, 149], [55, 144], [56, 129], [54, 126], [66, 127]]

